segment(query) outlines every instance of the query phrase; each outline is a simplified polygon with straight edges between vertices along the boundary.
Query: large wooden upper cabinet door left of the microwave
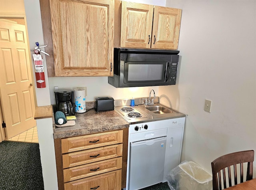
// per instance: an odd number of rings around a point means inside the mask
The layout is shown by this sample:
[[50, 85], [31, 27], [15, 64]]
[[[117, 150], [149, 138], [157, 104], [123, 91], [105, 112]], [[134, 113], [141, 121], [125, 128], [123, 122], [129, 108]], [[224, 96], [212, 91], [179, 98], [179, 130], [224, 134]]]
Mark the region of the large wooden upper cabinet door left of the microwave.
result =
[[50, 0], [56, 76], [112, 76], [114, 0]]

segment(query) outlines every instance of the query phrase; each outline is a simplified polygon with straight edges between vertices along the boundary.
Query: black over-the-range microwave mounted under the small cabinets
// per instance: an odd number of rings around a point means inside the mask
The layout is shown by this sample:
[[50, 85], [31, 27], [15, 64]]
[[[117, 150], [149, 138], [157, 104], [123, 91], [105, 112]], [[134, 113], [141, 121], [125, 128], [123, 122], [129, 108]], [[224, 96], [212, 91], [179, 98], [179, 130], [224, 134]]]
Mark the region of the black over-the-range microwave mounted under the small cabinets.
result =
[[175, 85], [179, 52], [114, 48], [114, 76], [108, 83], [116, 88]]

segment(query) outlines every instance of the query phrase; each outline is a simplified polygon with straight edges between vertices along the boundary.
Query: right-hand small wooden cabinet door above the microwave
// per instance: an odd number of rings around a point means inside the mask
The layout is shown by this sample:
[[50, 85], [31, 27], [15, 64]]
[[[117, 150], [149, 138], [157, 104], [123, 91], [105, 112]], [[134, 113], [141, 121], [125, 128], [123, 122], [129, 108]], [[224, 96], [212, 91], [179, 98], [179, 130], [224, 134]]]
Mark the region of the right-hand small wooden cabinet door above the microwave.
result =
[[181, 9], [154, 7], [151, 48], [178, 49]]

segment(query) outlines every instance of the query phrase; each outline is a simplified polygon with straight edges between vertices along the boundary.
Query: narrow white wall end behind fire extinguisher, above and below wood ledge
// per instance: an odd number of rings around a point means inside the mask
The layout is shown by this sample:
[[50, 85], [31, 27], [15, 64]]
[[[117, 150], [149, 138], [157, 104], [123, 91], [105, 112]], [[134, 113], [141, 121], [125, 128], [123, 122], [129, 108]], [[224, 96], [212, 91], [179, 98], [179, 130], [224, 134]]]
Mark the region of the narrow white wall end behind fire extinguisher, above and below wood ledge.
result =
[[[28, 38], [30, 43], [30, 49], [34, 49], [36, 42], [40, 46], [44, 45], [44, 37], [42, 31], [42, 20], [40, 12], [39, 0], [24, 0], [26, 20], [28, 28]], [[42, 49], [44, 50], [44, 49]], [[33, 52], [31, 53], [32, 57]], [[43, 59], [45, 60], [45, 55], [41, 53]], [[33, 58], [32, 58], [33, 60]], [[37, 88], [36, 84], [36, 100], [37, 106], [50, 105], [50, 93], [48, 84], [48, 75], [46, 69], [46, 61], [44, 63], [44, 73], [46, 88]], [[32, 63], [33, 64], [33, 63]], [[34, 68], [34, 65], [33, 65]], [[34, 81], [35, 74], [34, 74]], [[57, 172], [56, 172], [56, 162], [54, 153], [54, 139], [53, 139], [53, 129], [52, 129], [52, 118], [38, 119], [36, 121], [38, 130], [38, 141], [40, 149], [40, 158], [42, 164], [42, 175], [44, 179], [44, 189], [58, 189], [57, 182]]]

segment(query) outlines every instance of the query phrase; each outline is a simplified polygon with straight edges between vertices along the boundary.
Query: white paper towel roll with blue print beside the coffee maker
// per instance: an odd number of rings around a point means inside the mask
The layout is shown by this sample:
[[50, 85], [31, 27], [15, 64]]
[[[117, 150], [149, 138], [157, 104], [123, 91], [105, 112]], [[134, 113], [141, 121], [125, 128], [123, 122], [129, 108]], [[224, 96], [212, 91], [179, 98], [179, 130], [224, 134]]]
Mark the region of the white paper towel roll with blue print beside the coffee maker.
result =
[[81, 88], [74, 89], [75, 112], [76, 113], [86, 112], [85, 96], [86, 96], [86, 89], [85, 88], [81, 87]]

